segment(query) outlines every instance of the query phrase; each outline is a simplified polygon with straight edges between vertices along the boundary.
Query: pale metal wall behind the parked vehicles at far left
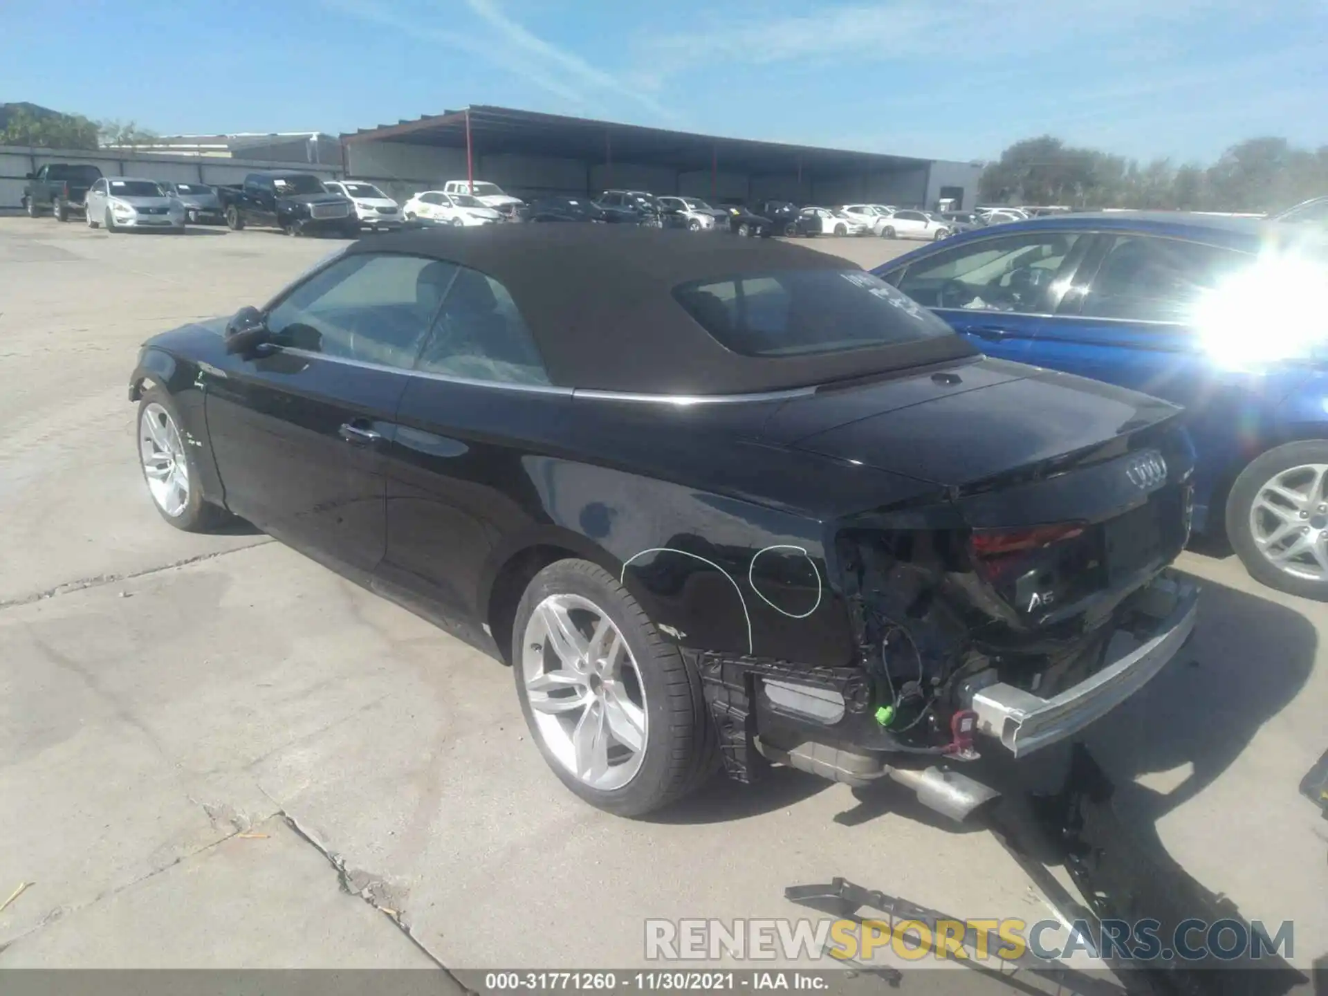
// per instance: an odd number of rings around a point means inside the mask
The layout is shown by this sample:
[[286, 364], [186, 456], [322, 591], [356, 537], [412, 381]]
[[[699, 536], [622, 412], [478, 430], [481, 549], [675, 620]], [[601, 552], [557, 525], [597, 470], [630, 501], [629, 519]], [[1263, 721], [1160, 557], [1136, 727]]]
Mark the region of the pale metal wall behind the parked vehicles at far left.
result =
[[[93, 151], [89, 149], [29, 149], [0, 145], [0, 210], [21, 206], [25, 175], [36, 173], [48, 162], [68, 162], [96, 166], [106, 177], [143, 177], [170, 179], [177, 183], [240, 183], [246, 173], [255, 170], [290, 170], [305, 167], [291, 162], [259, 159], [222, 159], [199, 155], [127, 155], [122, 151]], [[335, 179], [341, 170], [332, 166], [308, 166], [308, 171], [324, 179]]]

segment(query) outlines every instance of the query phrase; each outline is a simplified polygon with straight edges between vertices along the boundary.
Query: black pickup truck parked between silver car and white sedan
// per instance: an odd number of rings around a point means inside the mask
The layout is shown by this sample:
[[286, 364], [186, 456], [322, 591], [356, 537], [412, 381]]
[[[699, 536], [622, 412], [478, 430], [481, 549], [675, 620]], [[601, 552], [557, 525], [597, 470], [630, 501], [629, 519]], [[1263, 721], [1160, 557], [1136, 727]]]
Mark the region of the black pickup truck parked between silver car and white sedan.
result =
[[355, 202], [325, 190], [312, 173], [251, 173], [239, 186], [218, 187], [216, 198], [226, 224], [235, 231], [259, 224], [280, 228], [287, 235], [332, 232], [344, 239], [360, 238]]

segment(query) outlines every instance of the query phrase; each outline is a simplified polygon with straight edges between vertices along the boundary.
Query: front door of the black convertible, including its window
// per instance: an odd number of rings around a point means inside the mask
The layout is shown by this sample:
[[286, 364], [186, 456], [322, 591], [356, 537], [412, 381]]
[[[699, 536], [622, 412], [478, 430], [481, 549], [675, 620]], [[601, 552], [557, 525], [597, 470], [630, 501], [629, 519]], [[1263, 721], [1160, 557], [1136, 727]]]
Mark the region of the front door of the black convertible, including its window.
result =
[[382, 556], [382, 461], [450, 263], [343, 254], [266, 311], [268, 343], [205, 373], [227, 506], [360, 571]]

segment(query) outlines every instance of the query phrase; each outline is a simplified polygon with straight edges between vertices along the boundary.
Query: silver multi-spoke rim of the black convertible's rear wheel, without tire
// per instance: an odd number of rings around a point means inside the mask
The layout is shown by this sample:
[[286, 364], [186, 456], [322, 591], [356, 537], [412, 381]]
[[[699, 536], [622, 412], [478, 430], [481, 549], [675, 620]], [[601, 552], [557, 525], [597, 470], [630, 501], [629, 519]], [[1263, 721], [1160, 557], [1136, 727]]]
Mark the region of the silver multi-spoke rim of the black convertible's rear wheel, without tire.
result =
[[632, 781], [645, 757], [645, 685], [608, 614], [580, 595], [550, 595], [522, 647], [526, 700], [548, 753], [591, 789]]

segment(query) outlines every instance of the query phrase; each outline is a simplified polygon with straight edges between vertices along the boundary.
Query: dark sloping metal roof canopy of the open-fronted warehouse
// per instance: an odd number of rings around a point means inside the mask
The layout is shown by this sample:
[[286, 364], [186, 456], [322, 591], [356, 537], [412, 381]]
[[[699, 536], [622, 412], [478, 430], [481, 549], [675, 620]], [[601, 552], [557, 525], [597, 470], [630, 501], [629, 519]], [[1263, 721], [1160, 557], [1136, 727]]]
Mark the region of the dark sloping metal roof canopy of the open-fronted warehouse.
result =
[[360, 129], [341, 138], [348, 143], [402, 142], [465, 149], [467, 117], [471, 147], [479, 155], [505, 153], [548, 155], [596, 163], [672, 166], [683, 171], [709, 171], [718, 167], [721, 171], [752, 175], [801, 174], [819, 179], [899, 169], [926, 169], [931, 162], [904, 155], [721, 138], [486, 105], [448, 110], [397, 125]]

